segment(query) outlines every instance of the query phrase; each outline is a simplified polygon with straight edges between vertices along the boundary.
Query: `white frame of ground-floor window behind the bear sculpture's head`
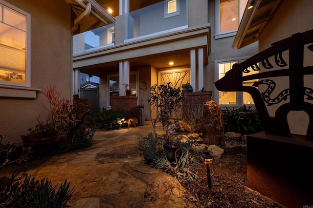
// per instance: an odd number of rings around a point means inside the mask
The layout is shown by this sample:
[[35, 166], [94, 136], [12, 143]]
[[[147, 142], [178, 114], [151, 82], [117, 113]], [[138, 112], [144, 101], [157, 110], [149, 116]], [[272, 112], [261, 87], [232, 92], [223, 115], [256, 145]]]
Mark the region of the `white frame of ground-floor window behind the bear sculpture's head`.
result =
[[[234, 58], [226, 58], [226, 59], [219, 59], [219, 60], [214, 60], [214, 82], [219, 80], [219, 64], [221, 63], [228, 63], [228, 62], [237, 62], [237, 63], [242, 63], [246, 59], [248, 59], [251, 56], [246, 56], [246, 57], [234, 57]], [[214, 100], [216, 103], [220, 103], [219, 99], [219, 90], [215, 87], [214, 85]], [[240, 107], [244, 105], [244, 92], [236, 92], [236, 104], [221, 104], [221, 107]], [[245, 104], [247, 106], [254, 106], [254, 104]]]

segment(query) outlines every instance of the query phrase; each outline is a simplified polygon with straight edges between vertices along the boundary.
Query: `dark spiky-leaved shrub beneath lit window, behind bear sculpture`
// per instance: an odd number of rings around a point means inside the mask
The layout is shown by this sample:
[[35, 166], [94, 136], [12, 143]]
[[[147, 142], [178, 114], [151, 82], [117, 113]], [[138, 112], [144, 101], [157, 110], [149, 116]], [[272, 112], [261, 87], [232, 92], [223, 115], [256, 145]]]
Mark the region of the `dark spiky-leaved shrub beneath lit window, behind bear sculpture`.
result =
[[246, 105], [223, 110], [223, 119], [225, 132], [237, 132], [241, 134], [250, 134], [262, 132], [263, 127], [259, 114], [255, 108]]

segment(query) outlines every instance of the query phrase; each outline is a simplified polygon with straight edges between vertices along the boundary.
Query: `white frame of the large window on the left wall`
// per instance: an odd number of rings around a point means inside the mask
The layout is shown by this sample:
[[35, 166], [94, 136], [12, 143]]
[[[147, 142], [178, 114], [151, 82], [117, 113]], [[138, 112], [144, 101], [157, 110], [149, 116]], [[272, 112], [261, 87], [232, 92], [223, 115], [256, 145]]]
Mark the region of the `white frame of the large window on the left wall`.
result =
[[[31, 15], [22, 9], [7, 3], [4, 0], [0, 0], [0, 4], [6, 6], [22, 15], [26, 18], [26, 42], [25, 42], [25, 83], [11, 82], [0, 80], [0, 85], [12, 86], [12, 87], [31, 87]], [[1, 7], [2, 9], [2, 7]], [[1, 96], [1, 95], [0, 95]]]

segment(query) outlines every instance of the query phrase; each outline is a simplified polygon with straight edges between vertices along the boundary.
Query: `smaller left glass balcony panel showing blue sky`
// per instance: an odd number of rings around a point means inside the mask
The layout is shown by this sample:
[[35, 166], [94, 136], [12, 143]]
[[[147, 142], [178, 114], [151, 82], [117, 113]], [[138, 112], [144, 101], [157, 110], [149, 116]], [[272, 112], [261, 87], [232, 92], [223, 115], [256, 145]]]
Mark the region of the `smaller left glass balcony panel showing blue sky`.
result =
[[114, 23], [99, 27], [73, 37], [73, 53], [114, 45]]

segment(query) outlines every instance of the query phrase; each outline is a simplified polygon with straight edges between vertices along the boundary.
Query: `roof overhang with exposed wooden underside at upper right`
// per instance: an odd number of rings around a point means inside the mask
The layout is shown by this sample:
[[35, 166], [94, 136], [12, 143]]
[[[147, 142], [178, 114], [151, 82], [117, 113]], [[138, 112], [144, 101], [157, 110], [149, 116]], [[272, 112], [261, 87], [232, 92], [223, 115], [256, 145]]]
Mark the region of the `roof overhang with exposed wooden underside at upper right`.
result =
[[[240, 49], [259, 40], [259, 34], [282, 0], [248, 0], [232, 48]], [[253, 6], [249, 9], [249, 6]]]

